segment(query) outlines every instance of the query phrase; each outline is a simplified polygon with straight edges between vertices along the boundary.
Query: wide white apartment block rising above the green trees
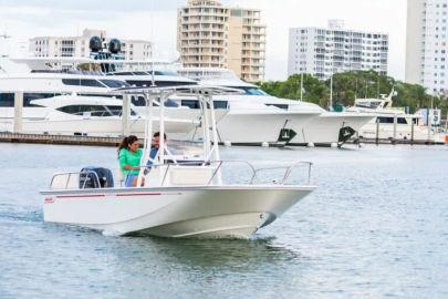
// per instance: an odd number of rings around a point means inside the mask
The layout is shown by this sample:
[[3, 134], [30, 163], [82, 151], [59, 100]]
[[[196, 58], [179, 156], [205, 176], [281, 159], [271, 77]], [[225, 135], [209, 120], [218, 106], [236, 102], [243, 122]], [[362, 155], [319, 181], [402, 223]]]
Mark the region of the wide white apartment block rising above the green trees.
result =
[[309, 73], [321, 80], [334, 73], [374, 70], [387, 74], [388, 34], [344, 29], [341, 20], [327, 28], [291, 28], [288, 74]]

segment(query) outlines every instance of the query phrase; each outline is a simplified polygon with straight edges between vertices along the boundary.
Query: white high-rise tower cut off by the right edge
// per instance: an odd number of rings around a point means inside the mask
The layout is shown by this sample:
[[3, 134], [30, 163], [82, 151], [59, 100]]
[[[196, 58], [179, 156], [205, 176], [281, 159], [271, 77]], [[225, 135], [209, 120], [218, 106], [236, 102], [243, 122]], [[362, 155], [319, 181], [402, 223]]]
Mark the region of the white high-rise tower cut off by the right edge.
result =
[[408, 0], [406, 82], [448, 93], [448, 1]]

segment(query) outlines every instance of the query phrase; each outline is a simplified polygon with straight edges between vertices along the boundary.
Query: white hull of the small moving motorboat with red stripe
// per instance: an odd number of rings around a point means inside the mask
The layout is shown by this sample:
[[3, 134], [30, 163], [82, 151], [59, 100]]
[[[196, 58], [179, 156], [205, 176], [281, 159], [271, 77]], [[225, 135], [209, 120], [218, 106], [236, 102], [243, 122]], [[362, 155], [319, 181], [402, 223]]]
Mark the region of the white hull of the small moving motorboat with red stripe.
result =
[[125, 235], [248, 238], [314, 186], [219, 186], [43, 192], [44, 220]]

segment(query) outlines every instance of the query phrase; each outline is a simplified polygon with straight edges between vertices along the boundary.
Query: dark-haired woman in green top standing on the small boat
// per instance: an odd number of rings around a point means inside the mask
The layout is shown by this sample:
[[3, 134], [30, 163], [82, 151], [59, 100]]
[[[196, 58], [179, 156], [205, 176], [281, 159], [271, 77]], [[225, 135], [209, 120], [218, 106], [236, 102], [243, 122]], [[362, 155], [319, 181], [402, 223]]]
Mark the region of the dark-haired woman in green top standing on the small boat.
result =
[[134, 135], [124, 137], [118, 147], [119, 168], [123, 171], [126, 187], [136, 187], [140, 171], [142, 150]]

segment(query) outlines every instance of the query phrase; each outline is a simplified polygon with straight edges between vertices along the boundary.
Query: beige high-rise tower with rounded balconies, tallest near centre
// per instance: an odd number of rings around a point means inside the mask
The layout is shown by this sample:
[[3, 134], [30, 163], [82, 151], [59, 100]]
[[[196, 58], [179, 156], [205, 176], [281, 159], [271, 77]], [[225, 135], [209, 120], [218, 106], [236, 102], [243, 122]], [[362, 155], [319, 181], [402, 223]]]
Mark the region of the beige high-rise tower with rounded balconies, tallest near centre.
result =
[[228, 68], [249, 82], [264, 78], [265, 25], [260, 10], [189, 0], [178, 10], [177, 48], [186, 68]]

